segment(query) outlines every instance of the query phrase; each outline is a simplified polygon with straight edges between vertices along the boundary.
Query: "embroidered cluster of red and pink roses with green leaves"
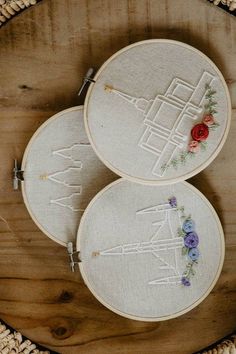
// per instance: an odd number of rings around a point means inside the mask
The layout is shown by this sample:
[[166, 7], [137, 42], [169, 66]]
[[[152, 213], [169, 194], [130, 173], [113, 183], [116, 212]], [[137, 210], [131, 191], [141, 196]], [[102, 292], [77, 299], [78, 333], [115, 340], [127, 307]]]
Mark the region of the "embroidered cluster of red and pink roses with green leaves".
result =
[[210, 85], [206, 85], [204, 106], [205, 111], [202, 117], [201, 123], [194, 125], [191, 130], [191, 140], [188, 144], [188, 149], [181, 151], [178, 157], [173, 158], [168, 164], [162, 165], [162, 170], [165, 171], [169, 167], [177, 168], [179, 164], [184, 164], [189, 157], [194, 157], [199, 150], [206, 150], [207, 138], [209, 132], [219, 127], [219, 123], [216, 122], [214, 114], [217, 113], [217, 102], [214, 100], [216, 91], [211, 88]]

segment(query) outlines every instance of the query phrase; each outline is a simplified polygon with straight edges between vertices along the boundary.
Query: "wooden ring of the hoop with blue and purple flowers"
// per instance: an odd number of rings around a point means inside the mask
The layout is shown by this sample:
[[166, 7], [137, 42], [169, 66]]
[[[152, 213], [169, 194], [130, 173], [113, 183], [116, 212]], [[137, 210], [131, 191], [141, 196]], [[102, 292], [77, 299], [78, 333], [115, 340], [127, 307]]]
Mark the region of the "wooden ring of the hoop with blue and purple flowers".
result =
[[[91, 202], [88, 204], [82, 218], [80, 221], [80, 227], [78, 229], [78, 233], [77, 233], [77, 243], [76, 243], [76, 250], [77, 251], [81, 251], [80, 248], [80, 240], [81, 237], [83, 237], [83, 223], [84, 220], [87, 216], [87, 214], [89, 213], [90, 208], [92, 207], [92, 205], [100, 198], [101, 195], [103, 195], [103, 193], [105, 193], [108, 189], [112, 188], [113, 186], [117, 185], [118, 183], [122, 183], [122, 181], [124, 181], [125, 179], [123, 178], [119, 178], [118, 180], [110, 183], [108, 186], [106, 186], [104, 189], [102, 189], [92, 200]], [[211, 285], [209, 286], [209, 288], [207, 289], [207, 291], [197, 300], [195, 301], [192, 305], [188, 306], [187, 308], [185, 308], [184, 310], [178, 311], [174, 314], [168, 315], [168, 316], [162, 316], [162, 317], [139, 317], [139, 316], [135, 316], [135, 315], [131, 315], [129, 313], [124, 313], [114, 307], [112, 307], [111, 305], [109, 305], [105, 300], [103, 300], [99, 295], [96, 294], [95, 290], [93, 289], [93, 287], [91, 286], [86, 273], [84, 271], [83, 268], [83, 262], [79, 263], [79, 269], [80, 269], [80, 273], [82, 275], [82, 278], [85, 282], [85, 284], [87, 285], [87, 287], [89, 288], [89, 290], [91, 291], [91, 293], [96, 297], [96, 299], [98, 301], [100, 301], [105, 307], [107, 307], [109, 310], [117, 313], [120, 316], [123, 317], [127, 317], [129, 319], [132, 320], [137, 320], [137, 321], [148, 321], [148, 322], [157, 322], [157, 321], [165, 321], [165, 320], [170, 320], [172, 318], [175, 317], [179, 317], [187, 312], [189, 312], [190, 310], [192, 310], [193, 308], [195, 308], [197, 305], [199, 305], [211, 292], [211, 290], [214, 288], [217, 280], [219, 279], [222, 267], [223, 267], [223, 263], [224, 263], [224, 257], [225, 257], [225, 241], [224, 241], [224, 232], [223, 232], [223, 228], [221, 225], [221, 222], [219, 220], [219, 217], [215, 211], [215, 209], [213, 208], [213, 206], [211, 205], [211, 203], [208, 201], [208, 199], [194, 186], [192, 186], [190, 183], [183, 181], [181, 182], [182, 184], [188, 186], [188, 188], [190, 188], [195, 194], [197, 194], [208, 206], [208, 208], [211, 210], [213, 216], [215, 217], [218, 229], [219, 229], [219, 235], [220, 235], [220, 241], [221, 241], [221, 258], [220, 258], [220, 263], [217, 269], [217, 273], [215, 278], [213, 279]]]

